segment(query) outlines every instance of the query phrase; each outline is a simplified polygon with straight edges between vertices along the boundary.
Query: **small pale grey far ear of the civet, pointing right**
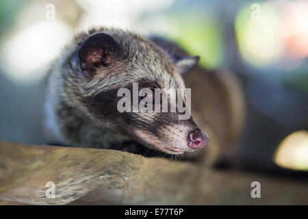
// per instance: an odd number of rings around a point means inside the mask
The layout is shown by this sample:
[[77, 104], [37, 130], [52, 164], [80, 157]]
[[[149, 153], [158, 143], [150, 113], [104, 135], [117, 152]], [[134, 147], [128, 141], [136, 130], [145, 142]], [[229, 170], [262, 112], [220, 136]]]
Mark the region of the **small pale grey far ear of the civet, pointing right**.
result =
[[199, 56], [184, 56], [175, 60], [175, 68], [180, 75], [190, 73], [190, 71], [196, 67], [199, 61]]

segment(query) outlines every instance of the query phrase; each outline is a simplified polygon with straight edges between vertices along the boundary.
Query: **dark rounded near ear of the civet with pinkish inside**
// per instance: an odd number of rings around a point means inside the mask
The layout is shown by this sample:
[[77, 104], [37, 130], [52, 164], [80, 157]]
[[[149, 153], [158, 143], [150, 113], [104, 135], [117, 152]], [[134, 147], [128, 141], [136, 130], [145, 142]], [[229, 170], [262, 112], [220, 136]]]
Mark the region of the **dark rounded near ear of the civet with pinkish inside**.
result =
[[93, 75], [100, 66], [108, 66], [120, 54], [120, 46], [108, 34], [98, 33], [89, 36], [78, 49], [81, 70]]

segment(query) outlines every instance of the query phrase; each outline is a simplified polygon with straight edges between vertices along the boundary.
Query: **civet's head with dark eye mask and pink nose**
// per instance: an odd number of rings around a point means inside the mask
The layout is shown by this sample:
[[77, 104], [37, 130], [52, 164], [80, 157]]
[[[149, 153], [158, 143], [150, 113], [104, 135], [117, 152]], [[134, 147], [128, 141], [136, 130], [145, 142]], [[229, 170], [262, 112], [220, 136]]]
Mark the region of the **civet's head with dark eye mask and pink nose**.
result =
[[[64, 77], [74, 89], [66, 99], [79, 99], [75, 107], [99, 120], [99, 125], [169, 154], [195, 151], [207, 144], [206, 133], [187, 116], [190, 100], [181, 78], [196, 66], [198, 57], [168, 53], [155, 40], [126, 31], [101, 29], [81, 36], [69, 58], [71, 71]], [[119, 92], [120, 88], [131, 95]], [[162, 89], [160, 93], [155, 92], [157, 88]], [[168, 105], [164, 110], [163, 96]], [[184, 112], [175, 107], [177, 100], [183, 100]], [[161, 103], [160, 108], [155, 103]], [[140, 105], [147, 111], [138, 109]]]

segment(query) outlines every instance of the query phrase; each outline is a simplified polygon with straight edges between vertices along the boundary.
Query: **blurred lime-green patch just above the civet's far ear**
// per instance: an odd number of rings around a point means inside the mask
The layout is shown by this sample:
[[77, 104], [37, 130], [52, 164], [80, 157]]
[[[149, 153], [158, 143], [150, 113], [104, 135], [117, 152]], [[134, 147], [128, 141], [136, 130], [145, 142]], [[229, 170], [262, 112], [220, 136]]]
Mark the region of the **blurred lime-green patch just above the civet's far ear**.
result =
[[[205, 13], [203, 13], [205, 14]], [[222, 63], [224, 39], [218, 21], [200, 13], [174, 14], [169, 24], [177, 30], [175, 41], [191, 55], [200, 55], [200, 64], [207, 69]]]

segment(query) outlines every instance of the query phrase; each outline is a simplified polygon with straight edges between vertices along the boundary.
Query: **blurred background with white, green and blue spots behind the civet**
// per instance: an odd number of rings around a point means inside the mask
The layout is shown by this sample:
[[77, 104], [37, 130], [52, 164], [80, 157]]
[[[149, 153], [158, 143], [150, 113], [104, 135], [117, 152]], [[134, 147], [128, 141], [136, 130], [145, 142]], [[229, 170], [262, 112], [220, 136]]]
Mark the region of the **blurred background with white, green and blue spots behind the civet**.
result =
[[242, 82], [249, 170], [308, 171], [308, 1], [0, 1], [0, 140], [44, 144], [44, 76], [83, 29], [159, 34]]

